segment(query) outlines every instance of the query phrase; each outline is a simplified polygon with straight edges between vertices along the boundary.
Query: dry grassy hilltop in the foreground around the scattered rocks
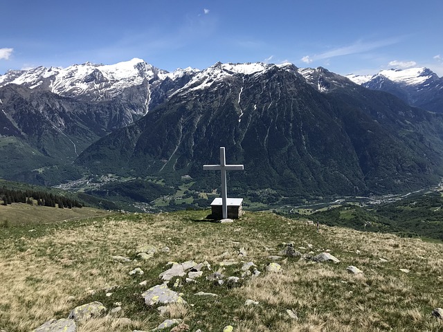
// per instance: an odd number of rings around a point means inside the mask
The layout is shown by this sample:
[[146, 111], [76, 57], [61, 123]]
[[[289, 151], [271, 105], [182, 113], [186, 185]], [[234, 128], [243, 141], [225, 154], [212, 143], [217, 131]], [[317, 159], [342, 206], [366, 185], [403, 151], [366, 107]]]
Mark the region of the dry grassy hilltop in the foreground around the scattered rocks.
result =
[[[222, 331], [227, 325], [246, 332], [443, 331], [443, 321], [431, 315], [443, 306], [442, 243], [326, 225], [317, 232], [302, 219], [264, 212], [213, 223], [208, 213], [114, 214], [35, 225], [34, 232], [0, 229], [0, 329], [31, 331], [51, 318], [67, 317], [75, 306], [100, 301], [107, 314], [79, 324], [78, 332], [150, 331], [167, 318], [183, 319], [190, 331]], [[280, 272], [267, 272], [269, 256], [289, 241], [305, 258], [283, 258]], [[137, 257], [140, 246], [156, 248], [154, 257]], [[165, 246], [169, 252], [161, 250]], [[246, 256], [239, 257], [241, 248]], [[309, 259], [326, 250], [340, 263]], [[118, 263], [113, 255], [131, 261]], [[196, 283], [171, 280], [169, 287], [188, 304], [174, 304], [163, 314], [145, 306], [141, 293], [162, 283], [159, 273], [168, 262], [188, 260], [208, 261], [212, 268]], [[216, 271], [225, 281], [242, 277], [247, 261], [260, 275], [221, 286], [206, 280]], [[348, 273], [350, 265], [363, 274]], [[137, 267], [144, 275], [129, 275]], [[218, 297], [195, 295], [199, 291]], [[246, 306], [246, 299], [258, 304]], [[117, 302], [122, 311], [112, 314]], [[287, 309], [298, 318], [289, 317]]]

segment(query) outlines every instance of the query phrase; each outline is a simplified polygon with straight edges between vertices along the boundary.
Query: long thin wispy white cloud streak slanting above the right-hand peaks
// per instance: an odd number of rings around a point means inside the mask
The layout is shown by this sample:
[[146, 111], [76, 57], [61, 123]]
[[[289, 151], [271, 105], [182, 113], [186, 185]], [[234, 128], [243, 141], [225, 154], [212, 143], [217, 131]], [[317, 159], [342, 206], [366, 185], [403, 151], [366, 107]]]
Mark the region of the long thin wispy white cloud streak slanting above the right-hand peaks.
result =
[[390, 46], [393, 44], [397, 44], [401, 41], [401, 39], [402, 39], [401, 37], [395, 37], [395, 38], [381, 39], [375, 42], [363, 42], [361, 40], [358, 40], [354, 44], [333, 48], [332, 50], [327, 50], [324, 53], [316, 55], [305, 55], [305, 57], [302, 57], [301, 61], [310, 64], [311, 62], [317, 60], [330, 59], [332, 57], [341, 57], [343, 55], [368, 52], [370, 50], [381, 48], [383, 46]]

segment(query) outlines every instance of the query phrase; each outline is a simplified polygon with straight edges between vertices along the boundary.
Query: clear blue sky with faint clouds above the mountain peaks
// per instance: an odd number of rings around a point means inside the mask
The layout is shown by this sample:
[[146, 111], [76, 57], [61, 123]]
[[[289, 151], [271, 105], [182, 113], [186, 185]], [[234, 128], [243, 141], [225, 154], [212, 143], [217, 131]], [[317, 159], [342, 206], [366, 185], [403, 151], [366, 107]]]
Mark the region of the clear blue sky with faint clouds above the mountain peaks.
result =
[[0, 75], [139, 57], [173, 71], [291, 62], [443, 76], [442, 0], [0, 0]]

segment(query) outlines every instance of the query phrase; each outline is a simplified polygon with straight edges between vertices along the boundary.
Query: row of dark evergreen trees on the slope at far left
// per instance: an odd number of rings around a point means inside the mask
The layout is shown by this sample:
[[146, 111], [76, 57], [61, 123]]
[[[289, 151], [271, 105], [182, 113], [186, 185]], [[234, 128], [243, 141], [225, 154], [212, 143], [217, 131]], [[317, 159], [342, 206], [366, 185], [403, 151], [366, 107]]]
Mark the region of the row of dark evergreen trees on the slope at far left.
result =
[[39, 206], [49, 206], [52, 208], [58, 206], [60, 209], [82, 208], [83, 206], [76, 199], [69, 199], [61, 195], [34, 190], [11, 190], [6, 189], [6, 187], [0, 187], [0, 198], [3, 200], [3, 205], [12, 203], [34, 205], [34, 201], [37, 201]]

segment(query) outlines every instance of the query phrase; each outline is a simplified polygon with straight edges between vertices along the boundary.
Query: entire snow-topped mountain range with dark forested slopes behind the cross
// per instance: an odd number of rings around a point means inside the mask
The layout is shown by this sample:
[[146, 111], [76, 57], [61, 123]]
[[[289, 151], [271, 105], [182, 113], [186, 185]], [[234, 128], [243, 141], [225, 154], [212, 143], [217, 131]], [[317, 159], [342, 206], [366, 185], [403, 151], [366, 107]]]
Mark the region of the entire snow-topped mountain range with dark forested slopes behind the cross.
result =
[[0, 176], [54, 185], [85, 173], [189, 175], [195, 189], [216, 188], [218, 176], [201, 165], [217, 163], [225, 146], [228, 163], [245, 165], [230, 175], [240, 192], [413, 190], [443, 175], [441, 91], [426, 68], [343, 77], [217, 63], [168, 73], [132, 59], [8, 71]]

